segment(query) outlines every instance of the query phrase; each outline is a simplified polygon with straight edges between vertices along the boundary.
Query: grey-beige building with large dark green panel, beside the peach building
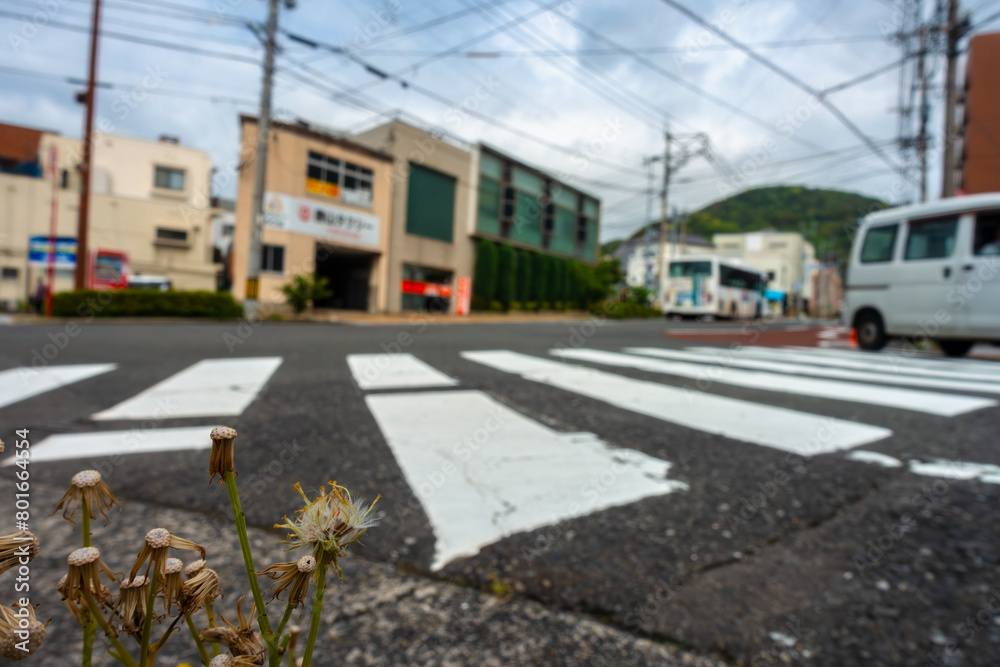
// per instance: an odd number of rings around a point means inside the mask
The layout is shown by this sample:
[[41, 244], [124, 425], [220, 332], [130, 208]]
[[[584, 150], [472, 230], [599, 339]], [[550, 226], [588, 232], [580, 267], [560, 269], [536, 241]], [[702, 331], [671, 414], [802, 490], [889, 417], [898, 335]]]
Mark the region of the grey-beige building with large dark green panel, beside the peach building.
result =
[[475, 242], [472, 154], [457, 141], [393, 120], [353, 139], [393, 157], [386, 310], [456, 312]]

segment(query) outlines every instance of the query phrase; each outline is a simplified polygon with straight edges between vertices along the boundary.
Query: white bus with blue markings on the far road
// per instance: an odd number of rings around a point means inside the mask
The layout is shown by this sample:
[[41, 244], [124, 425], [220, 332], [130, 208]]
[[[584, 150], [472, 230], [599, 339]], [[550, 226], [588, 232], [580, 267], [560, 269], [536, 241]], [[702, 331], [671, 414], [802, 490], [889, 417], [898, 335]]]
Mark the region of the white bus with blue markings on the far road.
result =
[[738, 259], [685, 255], [670, 260], [664, 281], [667, 317], [759, 318], [767, 276]]

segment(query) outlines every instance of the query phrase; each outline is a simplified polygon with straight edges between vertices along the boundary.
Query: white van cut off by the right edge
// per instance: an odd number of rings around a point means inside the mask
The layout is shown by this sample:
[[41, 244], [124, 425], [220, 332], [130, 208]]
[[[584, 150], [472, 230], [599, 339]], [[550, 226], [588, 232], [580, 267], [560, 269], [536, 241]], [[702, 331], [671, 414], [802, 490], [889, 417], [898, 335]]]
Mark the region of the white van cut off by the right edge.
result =
[[873, 213], [851, 248], [843, 318], [858, 345], [932, 339], [948, 356], [1000, 343], [1000, 193]]

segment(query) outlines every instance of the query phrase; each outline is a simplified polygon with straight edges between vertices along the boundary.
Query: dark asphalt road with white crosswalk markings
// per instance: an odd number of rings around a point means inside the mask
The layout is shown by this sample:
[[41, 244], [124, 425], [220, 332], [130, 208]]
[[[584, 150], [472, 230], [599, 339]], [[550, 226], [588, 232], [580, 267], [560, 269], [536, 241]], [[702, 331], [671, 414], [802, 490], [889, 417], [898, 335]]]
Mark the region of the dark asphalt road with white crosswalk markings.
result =
[[734, 664], [1000, 656], [995, 362], [795, 324], [67, 326], [0, 328], [36, 484], [210, 521], [226, 424], [251, 524], [336, 480], [382, 497], [359, 553], [421, 576]]

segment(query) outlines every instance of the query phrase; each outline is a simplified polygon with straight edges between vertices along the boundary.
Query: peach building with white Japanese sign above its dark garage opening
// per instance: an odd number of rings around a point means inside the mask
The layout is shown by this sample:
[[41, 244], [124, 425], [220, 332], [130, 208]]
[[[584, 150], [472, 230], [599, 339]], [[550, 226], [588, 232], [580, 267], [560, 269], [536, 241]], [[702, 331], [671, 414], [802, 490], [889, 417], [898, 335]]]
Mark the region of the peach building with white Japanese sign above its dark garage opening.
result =
[[[257, 119], [240, 116], [243, 160], [233, 237], [233, 296], [246, 296]], [[315, 305], [385, 312], [392, 158], [306, 123], [272, 121], [261, 233], [260, 302], [284, 304], [292, 277], [325, 277]]]

